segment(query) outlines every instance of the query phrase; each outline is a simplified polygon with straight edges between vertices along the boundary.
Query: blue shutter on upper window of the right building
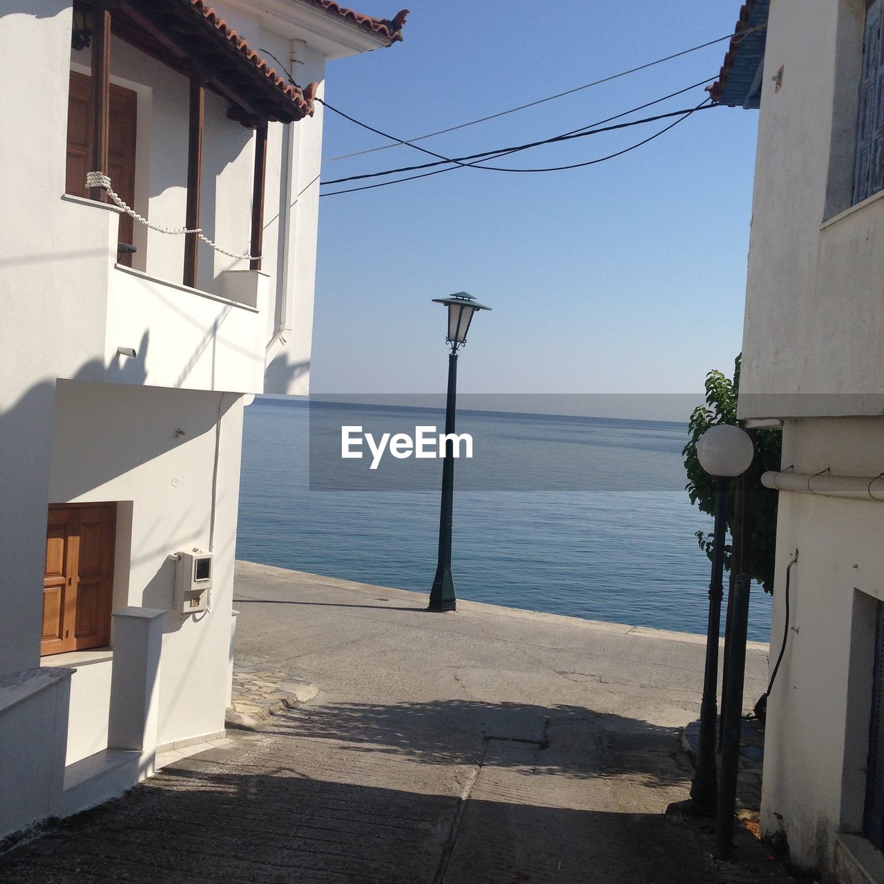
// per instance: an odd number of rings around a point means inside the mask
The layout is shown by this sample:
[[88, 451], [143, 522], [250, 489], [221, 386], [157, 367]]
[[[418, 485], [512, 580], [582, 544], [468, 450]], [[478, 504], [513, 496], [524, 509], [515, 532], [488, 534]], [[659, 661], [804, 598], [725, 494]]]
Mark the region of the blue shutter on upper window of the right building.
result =
[[863, 76], [859, 92], [857, 155], [853, 170], [853, 202], [884, 188], [884, 57], [881, 53], [881, 0], [865, 14]]

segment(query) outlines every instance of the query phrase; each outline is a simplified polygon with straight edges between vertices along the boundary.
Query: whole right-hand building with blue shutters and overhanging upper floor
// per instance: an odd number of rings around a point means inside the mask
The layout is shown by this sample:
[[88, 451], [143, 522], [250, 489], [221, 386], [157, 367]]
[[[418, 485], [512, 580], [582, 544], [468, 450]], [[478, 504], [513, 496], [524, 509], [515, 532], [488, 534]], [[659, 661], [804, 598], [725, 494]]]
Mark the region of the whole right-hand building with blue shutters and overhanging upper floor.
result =
[[881, 5], [746, 3], [713, 87], [760, 102], [739, 414], [783, 434], [762, 822], [839, 881], [884, 880]]

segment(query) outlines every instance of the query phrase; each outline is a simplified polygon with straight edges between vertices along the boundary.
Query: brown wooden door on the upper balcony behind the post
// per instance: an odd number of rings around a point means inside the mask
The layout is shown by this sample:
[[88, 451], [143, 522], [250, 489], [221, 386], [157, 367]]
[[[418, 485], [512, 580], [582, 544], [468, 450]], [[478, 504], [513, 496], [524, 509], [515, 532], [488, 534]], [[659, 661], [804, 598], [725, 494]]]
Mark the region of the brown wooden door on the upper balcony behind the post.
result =
[[[65, 193], [87, 196], [86, 173], [92, 156], [92, 78], [71, 72], [67, 103], [67, 165]], [[128, 206], [135, 202], [135, 118], [138, 95], [132, 89], [110, 84], [110, 133], [108, 175], [110, 186]], [[119, 217], [119, 241], [132, 242], [133, 218]], [[119, 263], [132, 266], [132, 255], [120, 255]]]

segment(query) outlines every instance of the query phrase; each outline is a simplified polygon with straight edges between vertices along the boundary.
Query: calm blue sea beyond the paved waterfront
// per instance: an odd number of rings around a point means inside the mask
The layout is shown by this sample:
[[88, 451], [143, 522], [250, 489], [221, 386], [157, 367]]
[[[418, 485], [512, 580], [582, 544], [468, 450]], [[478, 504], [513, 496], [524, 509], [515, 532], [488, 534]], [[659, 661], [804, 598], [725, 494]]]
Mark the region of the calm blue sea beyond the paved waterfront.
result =
[[[345, 423], [352, 419], [350, 409]], [[426, 414], [415, 411], [412, 425], [427, 423]], [[467, 490], [454, 492], [452, 569], [459, 598], [705, 633], [710, 565], [695, 533], [711, 530], [711, 520], [690, 506], [683, 490], [671, 490], [685, 482], [683, 424], [464, 417], [476, 447], [485, 434], [499, 445], [530, 439], [531, 469], [537, 473], [538, 462], [548, 468], [549, 487], [560, 488], [560, 476], [590, 455], [599, 475], [646, 473], [654, 481], [628, 490], [581, 492], [480, 491], [467, 482]], [[366, 408], [365, 418], [367, 424], [377, 422], [377, 407]], [[431, 415], [430, 423], [444, 422]], [[466, 429], [464, 421], [458, 429]], [[429, 592], [436, 570], [438, 490], [312, 491], [309, 440], [309, 409], [301, 403], [256, 400], [246, 409], [237, 557]], [[459, 477], [466, 462], [458, 464]], [[441, 478], [441, 461], [425, 463]], [[544, 483], [533, 476], [524, 487]], [[749, 637], [767, 641], [769, 627], [770, 598], [753, 586]]]

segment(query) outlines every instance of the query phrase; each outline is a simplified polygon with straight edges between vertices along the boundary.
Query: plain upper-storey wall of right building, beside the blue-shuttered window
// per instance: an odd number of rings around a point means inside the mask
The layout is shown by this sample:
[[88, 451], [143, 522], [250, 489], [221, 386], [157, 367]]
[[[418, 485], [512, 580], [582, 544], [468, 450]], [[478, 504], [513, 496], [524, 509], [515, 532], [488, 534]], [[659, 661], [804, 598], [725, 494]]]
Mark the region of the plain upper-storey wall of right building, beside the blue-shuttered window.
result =
[[[839, 260], [820, 228], [850, 204], [864, 0], [773, 0], [743, 331], [744, 417], [875, 414], [884, 403], [880, 275]], [[782, 69], [781, 88], [774, 77]], [[844, 222], [838, 222], [843, 224]], [[851, 234], [852, 235], [852, 234]], [[831, 396], [851, 396], [850, 406]]]

